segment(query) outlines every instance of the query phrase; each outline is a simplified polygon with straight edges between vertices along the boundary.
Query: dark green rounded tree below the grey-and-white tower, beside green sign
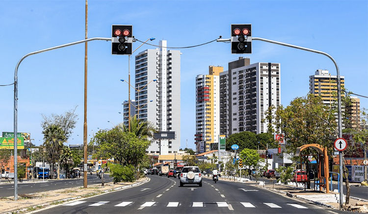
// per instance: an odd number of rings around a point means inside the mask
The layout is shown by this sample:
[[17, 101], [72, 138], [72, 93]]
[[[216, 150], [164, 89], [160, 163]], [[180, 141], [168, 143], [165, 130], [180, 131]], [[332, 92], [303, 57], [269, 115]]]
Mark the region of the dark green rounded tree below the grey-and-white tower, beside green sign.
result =
[[226, 150], [231, 150], [231, 146], [233, 144], [237, 144], [239, 146], [239, 150], [244, 148], [257, 149], [257, 136], [253, 132], [239, 132], [229, 136], [226, 139]]

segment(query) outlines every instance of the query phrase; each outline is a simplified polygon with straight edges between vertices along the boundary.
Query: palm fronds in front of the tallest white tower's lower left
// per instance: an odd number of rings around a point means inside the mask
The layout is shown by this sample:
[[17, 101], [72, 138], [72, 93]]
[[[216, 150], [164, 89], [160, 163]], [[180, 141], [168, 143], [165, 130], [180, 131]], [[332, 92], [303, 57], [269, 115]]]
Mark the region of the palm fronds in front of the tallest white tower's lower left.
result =
[[158, 131], [151, 122], [137, 119], [136, 116], [131, 118], [131, 130], [129, 130], [129, 127], [124, 124], [119, 124], [118, 126], [119, 128], [122, 128], [124, 132], [130, 131], [139, 138], [153, 138], [154, 133]]

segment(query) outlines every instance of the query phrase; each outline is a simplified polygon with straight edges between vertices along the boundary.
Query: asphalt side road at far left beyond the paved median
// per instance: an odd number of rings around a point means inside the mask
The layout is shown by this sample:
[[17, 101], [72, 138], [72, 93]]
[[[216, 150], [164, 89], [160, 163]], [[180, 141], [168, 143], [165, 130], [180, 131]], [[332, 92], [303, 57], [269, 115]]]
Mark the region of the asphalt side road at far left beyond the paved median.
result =
[[[108, 175], [104, 175], [105, 182], [112, 181]], [[42, 180], [37, 180], [37, 182], [26, 182], [19, 183], [18, 182], [18, 195], [19, 194], [29, 194], [40, 191], [49, 191], [49, 190], [57, 190], [62, 188], [70, 188], [70, 187], [80, 187], [83, 186], [83, 177], [74, 178], [74, 179], [61, 179], [61, 180], [48, 180], [47, 182], [42, 182]], [[14, 196], [14, 184], [7, 183], [7, 180], [1, 180], [0, 185], [0, 197], [9, 197]], [[96, 173], [87, 176], [87, 184], [98, 184], [101, 183], [101, 179], [97, 177]]]

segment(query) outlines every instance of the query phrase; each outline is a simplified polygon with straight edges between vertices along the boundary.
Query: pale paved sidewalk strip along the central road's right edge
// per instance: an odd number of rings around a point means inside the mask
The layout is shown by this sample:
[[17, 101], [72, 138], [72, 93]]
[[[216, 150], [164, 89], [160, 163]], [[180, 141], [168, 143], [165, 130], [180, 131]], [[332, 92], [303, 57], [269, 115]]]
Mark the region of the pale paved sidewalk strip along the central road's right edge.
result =
[[[209, 178], [210, 179], [210, 178]], [[317, 205], [333, 208], [333, 209], [340, 209], [340, 196], [337, 192], [330, 192], [325, 193], [322, 191], [316, 191], [316, 190], [304, 190], [302, 188], [296, 188], [289, 185], [284, 184], [265, 184], [263, 181], [250, 181], [248, 178], [242, 178], [240, 182], [239, 177], [228, 178], [228, 177], [219, 177], [222, 181], [230, 181], [230, 182], [238, 182], [238, 183], [246, 183], [246, 184], [252, 184], [252, 186], [263, 188], [269, 191], [273, 191], [279, 194], [284, 194], [289, 197], [294, 198], [300, 198], [304, 200], [311, 201]], [[343, 200], [345, 203], [346, 195], [344, 195]], [[368, 199], [367, 200], [358, 200], [358, 198], [350, 197], [349, 199], [349, 206], [345, 207], [344, 210], [348, 211], [356, 211], [356, 212], [363, 212], [368, 213]]]

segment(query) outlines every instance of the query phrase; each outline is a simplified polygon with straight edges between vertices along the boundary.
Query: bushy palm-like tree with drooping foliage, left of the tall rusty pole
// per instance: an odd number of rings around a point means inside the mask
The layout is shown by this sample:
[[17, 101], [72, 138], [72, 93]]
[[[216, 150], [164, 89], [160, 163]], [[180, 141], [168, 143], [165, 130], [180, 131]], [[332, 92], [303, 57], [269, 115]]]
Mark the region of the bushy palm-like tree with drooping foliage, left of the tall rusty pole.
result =
[[[66, 141], [64, 131], [57, 125], [47, 126], [42, 134], [44, 134], [43, 148], [45, 152], [45, 159], [49, 162], [51, 167], [51, 177], [53, 177], [53, 169], [56, 163], [59, 162], [62, 154], [63, 143]], [[58, 165], [59, 166], [59, 165]]]

